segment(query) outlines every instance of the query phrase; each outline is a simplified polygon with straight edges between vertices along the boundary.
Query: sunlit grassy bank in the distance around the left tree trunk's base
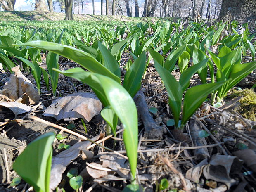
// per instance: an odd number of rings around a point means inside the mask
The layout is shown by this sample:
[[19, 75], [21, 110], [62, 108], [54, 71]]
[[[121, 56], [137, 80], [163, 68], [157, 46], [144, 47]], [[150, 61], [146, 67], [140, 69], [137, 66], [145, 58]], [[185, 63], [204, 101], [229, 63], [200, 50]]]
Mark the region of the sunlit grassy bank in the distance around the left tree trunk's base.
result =
[[[121, 16], [100, 16], [89, 14], [74, 14], [74, 21], [64, 21], [65, 14], [57, 12], [36, 12], [36, 11], [14, 11], [0, 12], [0, 26], [27, 27], [27, 28], [95, 28], [97, 23], [98, 28], [106, 28], [113, 26], [124, 26]], [[137, 24], [152, 22], [159, 18], [142, 18], [142, 17], [127, 17], [123, 16], [126, 24]]]

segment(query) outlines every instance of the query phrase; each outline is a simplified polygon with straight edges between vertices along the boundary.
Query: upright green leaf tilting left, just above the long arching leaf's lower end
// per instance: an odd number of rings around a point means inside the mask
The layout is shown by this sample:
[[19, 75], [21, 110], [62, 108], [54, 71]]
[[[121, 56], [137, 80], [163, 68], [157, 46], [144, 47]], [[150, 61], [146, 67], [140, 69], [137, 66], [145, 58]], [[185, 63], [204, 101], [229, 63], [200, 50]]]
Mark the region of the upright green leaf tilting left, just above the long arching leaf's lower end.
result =
[[98, 46], [100, 48], [100, 52], [102, 52], [102, 56], [104, 58], [104, 66], [109, 69], [112, 73], [114, 73], [116, 76], [120, 77], [121, 76], [121, 71], [119, 68], [119, 64], [116, 62], [116, 59], [114, 56], [111, 54], [111, 52], [98, 41]]

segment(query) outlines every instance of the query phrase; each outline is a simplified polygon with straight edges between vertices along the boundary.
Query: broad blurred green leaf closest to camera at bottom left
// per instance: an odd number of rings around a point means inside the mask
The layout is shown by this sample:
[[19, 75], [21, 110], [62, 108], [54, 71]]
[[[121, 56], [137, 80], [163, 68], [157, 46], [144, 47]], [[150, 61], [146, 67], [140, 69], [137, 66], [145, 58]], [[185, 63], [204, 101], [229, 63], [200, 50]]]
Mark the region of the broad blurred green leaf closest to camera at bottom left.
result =
[[52, 164], [52, 142], [55, 134], [45, 133], [33, 140], [16, 158], [14, 170], [36, 192], [49, 192], [50, 171]]

